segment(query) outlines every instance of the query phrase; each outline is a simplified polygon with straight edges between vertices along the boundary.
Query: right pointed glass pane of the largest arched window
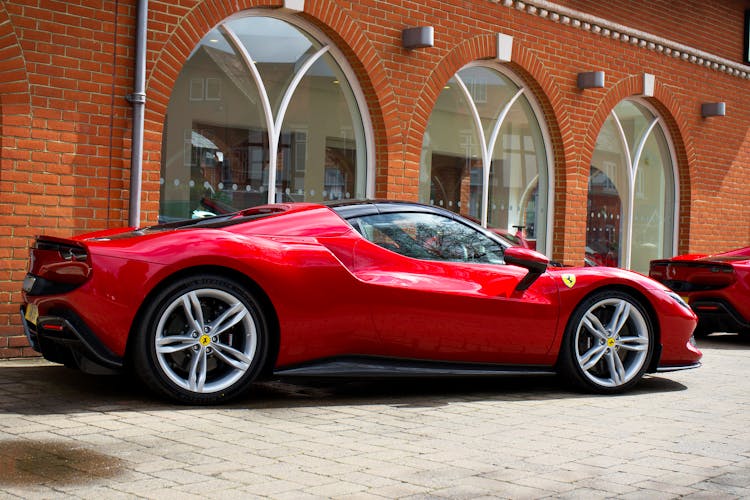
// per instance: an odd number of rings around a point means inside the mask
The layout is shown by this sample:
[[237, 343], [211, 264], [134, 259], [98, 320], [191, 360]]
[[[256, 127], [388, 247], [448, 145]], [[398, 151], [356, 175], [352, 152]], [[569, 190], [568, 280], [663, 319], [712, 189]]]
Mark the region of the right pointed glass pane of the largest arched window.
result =
[[302, 78], [284, 117], [277, 201], [364, 197], [364, 143], [351, 86], [325, 54]]

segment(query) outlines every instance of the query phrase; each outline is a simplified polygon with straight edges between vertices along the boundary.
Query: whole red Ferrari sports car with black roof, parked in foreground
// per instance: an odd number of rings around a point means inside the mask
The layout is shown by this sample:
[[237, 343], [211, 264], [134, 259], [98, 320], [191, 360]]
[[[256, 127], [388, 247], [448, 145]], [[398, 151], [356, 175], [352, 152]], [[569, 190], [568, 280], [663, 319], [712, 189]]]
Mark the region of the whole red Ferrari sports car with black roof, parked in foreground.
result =
[[695, 314], [621, 269], [548, 259], [405, 202], [289, 203], [31, 249], [31, 345], [211, 404], [262, 377], [558, 372], [626, 390], [698, 366]]

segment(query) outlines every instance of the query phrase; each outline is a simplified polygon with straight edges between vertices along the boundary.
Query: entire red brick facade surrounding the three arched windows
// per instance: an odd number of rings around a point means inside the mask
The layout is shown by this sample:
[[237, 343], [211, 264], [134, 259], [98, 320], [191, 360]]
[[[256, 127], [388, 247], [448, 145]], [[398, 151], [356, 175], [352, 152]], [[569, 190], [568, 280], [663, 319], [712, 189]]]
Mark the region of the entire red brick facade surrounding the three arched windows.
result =
[[[347, 55], [376, 136], [377, 195], [417, 198], [419, 154], [443, 85], [465, 64], [495, 55], [495, 34], [514, 37], [509, 66], [536, 95], [554, 153], [554, 254], [580, 263], [589, 161], [599, 130], [622, 99], [656, 77], [652, 104], [672, 132], [680, 177], [679, 251], [750, 242], [750, 80], [689, 55], [660, 51], [541, 15], [511, 0], [308, 0], [303, 14]], [[0, 4], [0, 356], [30, 354], [19, 325], [27, 248], [38, 233], [66, 235], [127, 223], [135, 0], [11, 0]], [[83, 5], [81, 5], [83, 4]], [[173, 82], [195, 44], [239, 10], [280, 0], [149, 2], [142, 221], [159, 207], [161, 134]], [[559, 4], [740, 63], [746, 1]], [[541, 4], [540, 4], [541, 5]], [[549, 6], [548, 3], [544, 5]], [[549, 8], [549, 7], [547, 7]], [[431, 25], [435, 46], [401, 48], [404, 27]], [[579, 71], [606, 72], [580, 91]], [[747, 68], [750, 71], [750, 68]], [[704, 119], [702, 102], [727, 116]]]

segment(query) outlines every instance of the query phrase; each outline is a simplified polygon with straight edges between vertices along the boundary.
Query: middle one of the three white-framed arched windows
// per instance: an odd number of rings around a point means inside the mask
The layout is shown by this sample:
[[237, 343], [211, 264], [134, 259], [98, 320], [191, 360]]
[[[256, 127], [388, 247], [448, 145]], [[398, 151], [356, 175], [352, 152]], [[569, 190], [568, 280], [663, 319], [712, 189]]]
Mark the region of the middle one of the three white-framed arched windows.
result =
[[470, 64], [441, 91], [422, 143], [420, 199], [549, 253], [550, 148], [531, 93], [494, 66]]

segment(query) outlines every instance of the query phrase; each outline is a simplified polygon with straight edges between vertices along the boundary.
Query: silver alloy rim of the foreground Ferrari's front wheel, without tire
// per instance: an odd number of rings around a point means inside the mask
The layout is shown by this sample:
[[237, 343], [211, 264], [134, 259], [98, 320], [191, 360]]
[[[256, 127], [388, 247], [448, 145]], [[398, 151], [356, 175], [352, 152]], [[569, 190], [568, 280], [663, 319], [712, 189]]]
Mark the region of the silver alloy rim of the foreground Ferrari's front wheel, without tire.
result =
[[608, 298], [583, 315], [573, 345], [583, 374], [600, 387], [615, 388], [641, 373], [650, 342], [639, 308], [622, 298]]

